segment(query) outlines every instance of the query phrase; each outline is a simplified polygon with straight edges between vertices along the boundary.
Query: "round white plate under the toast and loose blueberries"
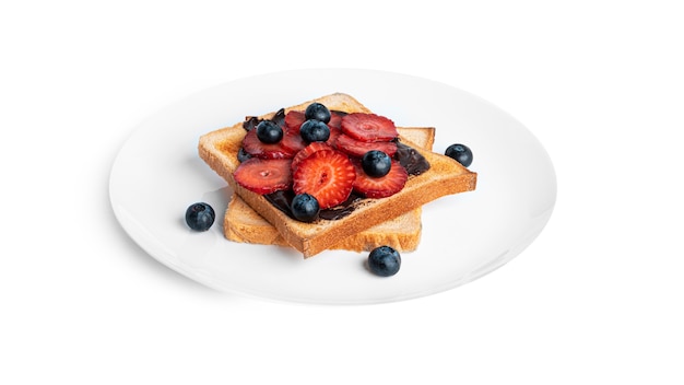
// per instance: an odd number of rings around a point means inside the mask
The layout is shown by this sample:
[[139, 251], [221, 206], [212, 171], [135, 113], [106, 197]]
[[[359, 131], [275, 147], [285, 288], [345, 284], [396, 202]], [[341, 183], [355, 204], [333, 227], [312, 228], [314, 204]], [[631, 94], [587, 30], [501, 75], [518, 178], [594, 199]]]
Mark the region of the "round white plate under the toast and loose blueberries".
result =
[[[372, 275], [367, 253], [325, 252], [305, 260], [222, 234], [229, 191], [199, 159], [199, 136], [333, 92], [355, 96], [398, 126], [436, 127], [436, 152], [453, 142], [473, 150], [476, 190], [424, 207], [418, 250], [402, 255], [393, 277]], [[346, 69], [259, 75], [191, 95], [138, 127], [117, 155], [109, 187], [123, 229], [169, 268], [222, 291], [319, 304], [408, 300], [470, 282], [520, 254], [549, 221], [556, 198], [549, 155], [508, 114], [438, 82]], [[185, 210], [196, 201], [216, 211], [208, 232], [185, 224]]]

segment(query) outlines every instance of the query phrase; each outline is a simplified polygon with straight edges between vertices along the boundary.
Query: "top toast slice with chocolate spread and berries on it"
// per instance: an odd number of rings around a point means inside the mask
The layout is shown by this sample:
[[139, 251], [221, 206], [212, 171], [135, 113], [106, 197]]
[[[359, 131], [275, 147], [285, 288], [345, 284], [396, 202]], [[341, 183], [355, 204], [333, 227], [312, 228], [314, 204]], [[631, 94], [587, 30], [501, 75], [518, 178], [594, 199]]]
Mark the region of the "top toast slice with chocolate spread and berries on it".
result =
[[[331, 110], [344, 113], [370, 113], [370, 110], [354, 97], [334, 93], [299, 105], [285, 108], [304, 110], [314, 102], [326, 105]], [[259, 116], [260, 119], [270, 119], [275, 112]], [[270, 203], [263, 196], [255, 194], [235, 182], [233, 172], [239, 165], [237, 154], [241, 148], [243, 138], [247, 131], [243, 122], [217, 129], [200, 137], [198, 151], [200, 158], [219, 175], [221, 175], [233, 190], [255, 211], [270, 222], [283, 236], [286, 243], [299, 250], [305, 258], [333, 247], [352, 234], [380, 224], [388, 219], [421, 208], [446, 195], [473, 190], [476, 184], [476, 174], [463, 167], [451, 158], [420, 149], [410, 140], [399, 137], [401, 142], [413, 147], [429, 163], [429, 170], [420, 175], [409, 177], [403, 189], [390, 197], [381, 199], [362, 199], [354, 203], [352, 212], [338, 220], [318, 219], [311, 223], [296, 221]]]

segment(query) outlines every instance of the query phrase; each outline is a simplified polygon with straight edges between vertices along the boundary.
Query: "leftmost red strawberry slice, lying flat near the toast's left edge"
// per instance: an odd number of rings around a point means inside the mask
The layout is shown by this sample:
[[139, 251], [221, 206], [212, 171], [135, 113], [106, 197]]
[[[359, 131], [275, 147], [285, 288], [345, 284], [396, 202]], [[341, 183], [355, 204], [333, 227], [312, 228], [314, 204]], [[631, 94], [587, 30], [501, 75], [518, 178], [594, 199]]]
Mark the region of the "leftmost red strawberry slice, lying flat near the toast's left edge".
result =
[[233, 173], [235, 182], [257, 194], [286, 190], [292, 185], [291, 160], [250, 158]]

